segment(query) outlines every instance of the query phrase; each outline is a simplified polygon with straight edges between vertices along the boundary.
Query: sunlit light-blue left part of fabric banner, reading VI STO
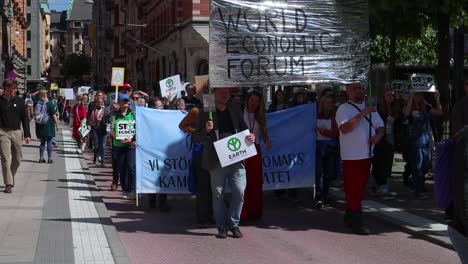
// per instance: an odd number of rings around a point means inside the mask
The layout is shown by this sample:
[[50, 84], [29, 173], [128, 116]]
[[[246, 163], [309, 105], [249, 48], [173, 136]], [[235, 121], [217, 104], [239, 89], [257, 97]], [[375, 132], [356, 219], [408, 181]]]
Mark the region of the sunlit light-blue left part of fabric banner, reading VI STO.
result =
[[137, 107], [137, 193], [189, 193], [190, 140], [179, 129], [178, 110]]

